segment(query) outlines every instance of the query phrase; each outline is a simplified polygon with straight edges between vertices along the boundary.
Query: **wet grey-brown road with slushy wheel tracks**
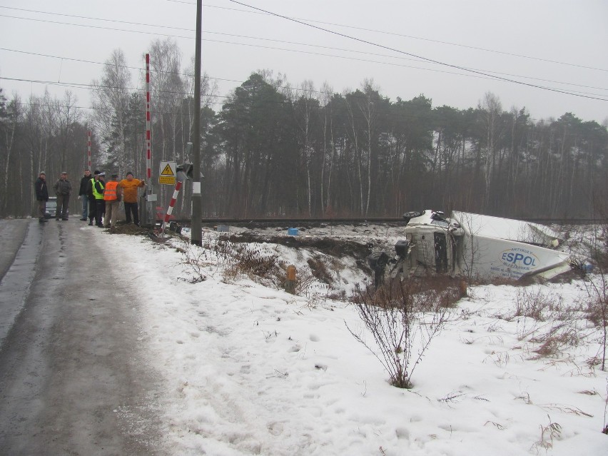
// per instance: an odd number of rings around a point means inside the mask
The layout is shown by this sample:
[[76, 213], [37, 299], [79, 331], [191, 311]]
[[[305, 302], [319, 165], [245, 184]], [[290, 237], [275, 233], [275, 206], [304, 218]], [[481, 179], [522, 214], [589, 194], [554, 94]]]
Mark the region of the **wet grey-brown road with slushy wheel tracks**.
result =
[[136, 290], [86, 222], [0, 221], [0, 454], [164, 455]]

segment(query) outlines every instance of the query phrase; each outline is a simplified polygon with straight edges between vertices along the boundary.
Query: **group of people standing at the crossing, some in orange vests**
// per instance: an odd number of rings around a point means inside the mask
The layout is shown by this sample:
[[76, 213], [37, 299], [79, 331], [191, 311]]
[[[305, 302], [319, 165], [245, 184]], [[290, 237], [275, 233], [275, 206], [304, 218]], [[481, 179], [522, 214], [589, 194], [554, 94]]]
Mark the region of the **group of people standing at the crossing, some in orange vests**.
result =
[[[78, 199], [82, 203], [81, 221], [88, 219], [89, 226], [99, 228], [115, 228], [118, 218], [118, 206], [124, 203], [126, 223], [135, 223], [139, 226], [139, 210], [137, 205], [137, 190], [146, 186], [144, 181], [133, 178], [133, 173], [126, 173], [126, 178], [118, 181], [118, 174], [112, 174], [106, 182], [106, 173], [85, 170], [80, 180]], [[49, 201], [49, 189], [46, 186], [46, 174], [39, 173], [36, 183], [36, 200], [38, 201], [39, 221], [46, 222], [46, 202]], [[53, 186], [57, 197], [57, 208], [55, 220], [68, 220], [69, 202], [72, 192], [72, 184], [68, 180], [68, 173], [61, 173], [61, 177]]]

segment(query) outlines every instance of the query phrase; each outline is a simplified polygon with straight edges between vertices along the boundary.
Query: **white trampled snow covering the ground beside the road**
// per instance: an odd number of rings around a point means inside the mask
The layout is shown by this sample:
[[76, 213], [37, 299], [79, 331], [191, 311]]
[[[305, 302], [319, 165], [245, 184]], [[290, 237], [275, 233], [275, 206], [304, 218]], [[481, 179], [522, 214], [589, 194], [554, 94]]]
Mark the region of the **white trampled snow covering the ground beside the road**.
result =
[[[203, 244], [220, 234], [205, 230]], [[399, 230], [300, 232], [315, 235], [392, 245]], [[180, 240], [94, 236], [131, 271], [118, 280], [141, 290], [133, 330], [166, 385], [150, 407], [164, 411], [168, 454], [608, 454], [601, 432], [608, 377], [591, 361], [602, 356], [603, 334], [579, 310], [589, 295], [582, 280], [470, 287], [417, 365], [414, 387], [403, 390], [349, 332], [347, 325], [373, 344], [355, 305], [324, 298], [325, 285], [290, 295], [272, 283], [226, 278], [216, 253]], [[256, 248], [298, 273], [310, 258], [284, 245]], [[204, 260], [206, 280], [191, 283], [188, 255]], [[333, 286], [348, 295], [363, 277], [348, 260], [339, 268]], [[535, 340], [563, 322], [515, 317], [516, 305], [534, 299], [577, 309], [572, 342], [554, 355], [539, 356]]]

